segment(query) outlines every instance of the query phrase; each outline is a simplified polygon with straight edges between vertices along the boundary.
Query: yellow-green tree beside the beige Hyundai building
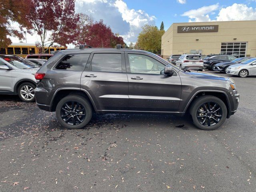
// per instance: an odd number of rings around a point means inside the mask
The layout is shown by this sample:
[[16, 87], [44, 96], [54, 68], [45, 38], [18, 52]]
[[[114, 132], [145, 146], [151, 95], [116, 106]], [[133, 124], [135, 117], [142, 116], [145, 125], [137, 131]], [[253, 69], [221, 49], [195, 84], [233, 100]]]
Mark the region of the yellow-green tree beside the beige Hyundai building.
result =
[[146, 24], [142, 27], [142, 32], [138, 36], [138, 47], [142, 50], [150, 50], [156, 54], [161, 53], [161, 40], [164, 31], [159, 30], [157, 26]]

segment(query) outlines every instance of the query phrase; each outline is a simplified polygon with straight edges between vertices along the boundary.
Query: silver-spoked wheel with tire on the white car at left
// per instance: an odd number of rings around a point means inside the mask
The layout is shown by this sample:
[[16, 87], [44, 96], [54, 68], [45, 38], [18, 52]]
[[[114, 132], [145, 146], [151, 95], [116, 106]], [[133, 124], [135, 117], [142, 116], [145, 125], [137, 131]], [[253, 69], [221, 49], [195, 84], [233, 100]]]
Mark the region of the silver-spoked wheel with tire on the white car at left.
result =
[[22, 83], [18, 88], [18, 96], [24, 102], [34, 102], [36, 85], [30, 82]]

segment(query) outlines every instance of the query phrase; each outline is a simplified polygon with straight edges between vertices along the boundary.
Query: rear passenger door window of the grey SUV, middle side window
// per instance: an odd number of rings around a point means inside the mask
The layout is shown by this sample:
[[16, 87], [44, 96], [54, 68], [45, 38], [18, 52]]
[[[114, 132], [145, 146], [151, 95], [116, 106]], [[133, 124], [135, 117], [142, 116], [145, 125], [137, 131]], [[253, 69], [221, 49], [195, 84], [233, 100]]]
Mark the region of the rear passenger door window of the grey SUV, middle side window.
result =
[[92, 71], [122, 72], [119, 53], [96, 53], [92, 58]]

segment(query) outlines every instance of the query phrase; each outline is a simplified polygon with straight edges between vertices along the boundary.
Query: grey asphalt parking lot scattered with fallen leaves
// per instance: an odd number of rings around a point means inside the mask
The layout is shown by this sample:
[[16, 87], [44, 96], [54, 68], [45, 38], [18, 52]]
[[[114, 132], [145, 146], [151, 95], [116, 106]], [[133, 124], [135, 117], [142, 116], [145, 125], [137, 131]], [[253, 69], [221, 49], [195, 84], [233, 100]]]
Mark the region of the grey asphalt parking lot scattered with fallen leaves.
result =
[[0, 96], [0, 191], [255, 191], [256, 77], [232, 78], [238, 112], [214, 131], [145, 114], [67, 130], [35, 103]]

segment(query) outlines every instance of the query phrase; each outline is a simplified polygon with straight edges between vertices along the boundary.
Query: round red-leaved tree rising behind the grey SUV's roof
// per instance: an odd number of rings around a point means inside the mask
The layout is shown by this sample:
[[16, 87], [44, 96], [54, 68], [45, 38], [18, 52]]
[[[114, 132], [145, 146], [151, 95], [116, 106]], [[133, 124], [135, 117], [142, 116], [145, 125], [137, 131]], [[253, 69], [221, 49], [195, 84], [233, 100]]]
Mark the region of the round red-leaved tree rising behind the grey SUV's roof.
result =
[[[82, 18], [82, 17], [81, 17]], [[82, 21], [80, 20], [79, 23]], [[114, 34], [110, 26], [106, 26], [103, 20], [88, 23], [86, 25], [78, 25], [77, 31], [79, 35], [76, 44], [88, 44], [92, 47], [114, 48], [117, 44], [124, 45], [124, 40], [118, 34]]]

